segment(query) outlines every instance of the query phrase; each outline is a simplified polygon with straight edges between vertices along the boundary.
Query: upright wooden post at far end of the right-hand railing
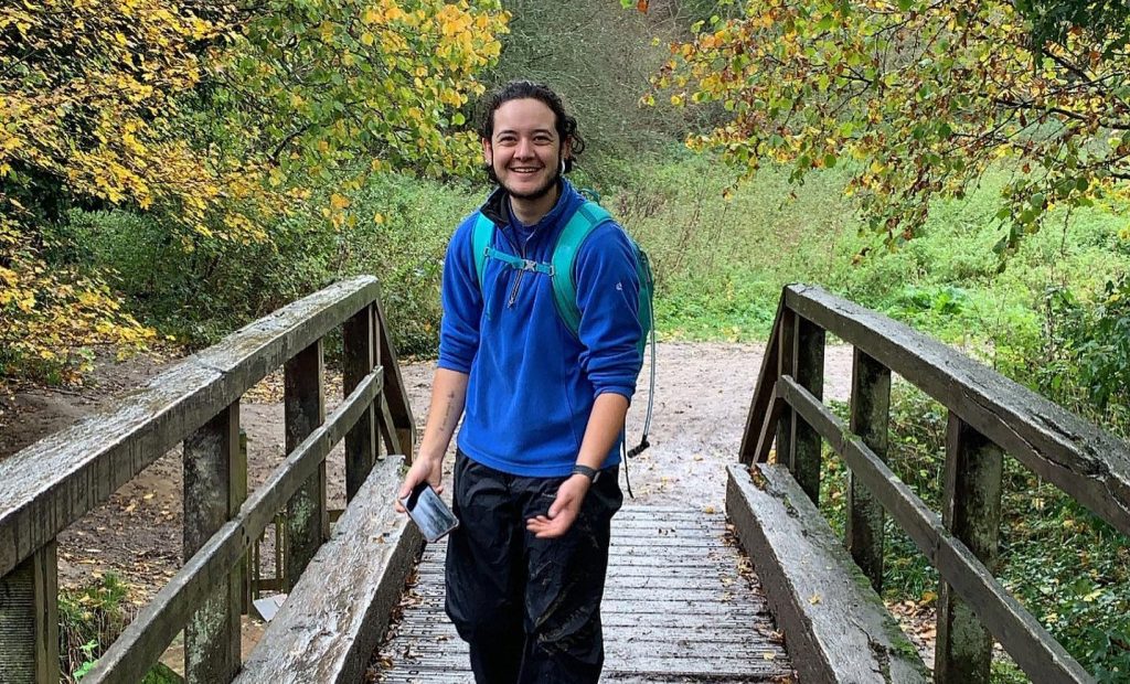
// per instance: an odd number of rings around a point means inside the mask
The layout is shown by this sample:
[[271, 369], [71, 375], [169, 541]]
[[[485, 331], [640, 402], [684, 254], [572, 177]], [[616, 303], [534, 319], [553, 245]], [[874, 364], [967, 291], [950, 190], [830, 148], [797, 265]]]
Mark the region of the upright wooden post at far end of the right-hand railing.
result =
[[[824, 328], [796, 314], [793, 370], [797, 382], [814, 397], [824, 397]], [[792, 476], [812, 502], [820, 497], [820, 435], [803, 421], [792, 419]]]

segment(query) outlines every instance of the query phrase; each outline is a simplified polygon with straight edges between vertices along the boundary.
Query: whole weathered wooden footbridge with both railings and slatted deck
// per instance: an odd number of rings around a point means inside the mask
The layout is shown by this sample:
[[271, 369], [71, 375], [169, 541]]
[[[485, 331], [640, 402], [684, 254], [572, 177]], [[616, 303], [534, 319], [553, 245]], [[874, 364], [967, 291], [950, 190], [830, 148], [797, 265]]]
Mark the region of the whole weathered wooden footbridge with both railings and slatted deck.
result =
[[[327, 415], [338, 331], [346, 397]], [[826, 332], [855, 349], [846, 424], [820, 400]], [[278, 367], [287, 458], [249, 493], [240, 399]], [[884, 462], [892, 372], [949, 409], [940, 514]], [[325, 458], [342, 440], [348, 505], [333, 512]], [[142, 681], [182, 631], [190, 682], [356, 682], [371, 664], [388, 682], [470, 681], [442, 615], [442, 546], [424, 549], [392, 510], [414, 442], [376, 282], [357, 278], [0, 461], [0, 682], [59, 681], [56, 537], [179, 444], [184, 564], [84, 683]], [[822, 444], [851, 470], [846, 539], [814, 504]], [[605, 679], [986, 682], [997, 640], [1033, 681], [1092, 681], [993, 577], [1006, 454], [1130, 534], [1123, 442], [905, 326], [786, 287], [725, 516], [641, 506], [614, 522]], [[885, 517], [942, 578], [932, 675], [876, 592]], [[241, 661], [241, 613], [264, 586], [287, 598]]]

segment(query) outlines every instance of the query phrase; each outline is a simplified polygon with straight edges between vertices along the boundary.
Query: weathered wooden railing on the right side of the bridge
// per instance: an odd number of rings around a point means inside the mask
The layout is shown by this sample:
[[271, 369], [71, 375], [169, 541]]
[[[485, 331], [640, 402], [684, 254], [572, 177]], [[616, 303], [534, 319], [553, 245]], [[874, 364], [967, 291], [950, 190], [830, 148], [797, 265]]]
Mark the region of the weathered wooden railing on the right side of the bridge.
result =
[[[826, 332], [854, 346], [846, 425], [822, 400]], [[892, 372], [949, 412], [940, 516], [885, 462]], [[1034, 681], [1092, 681], [993, 577], [1003, 454], [1130, 535], [1124, 442], [902, 323], [820, 288], [790, 285], [762, 364], [741, 461], [766, 461], [775, 442], [776, 461], [816, 502], [822, 440], [850, 468], [845, 544], [876, 590], [885, 516], [941, 577], [937, 682], [988, 682], [993, 638]]]

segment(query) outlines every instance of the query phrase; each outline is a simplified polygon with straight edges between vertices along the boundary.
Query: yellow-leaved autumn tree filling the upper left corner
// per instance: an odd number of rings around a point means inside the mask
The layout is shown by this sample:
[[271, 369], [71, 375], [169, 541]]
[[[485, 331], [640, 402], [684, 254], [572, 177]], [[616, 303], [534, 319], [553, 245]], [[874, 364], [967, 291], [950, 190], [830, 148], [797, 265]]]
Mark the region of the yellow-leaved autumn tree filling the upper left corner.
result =
[[[41, 0], [0, 8], [0, 378], [153, 332], [101, 274], [49, 266], [67, 208], [261, 241], [342, 166], [470, 168], [459, 109], [498, 54], [497, 0]], [[344, 220], [332, 194], [321, 209]], [[81, 365], [81, 364], [80, 364]]]

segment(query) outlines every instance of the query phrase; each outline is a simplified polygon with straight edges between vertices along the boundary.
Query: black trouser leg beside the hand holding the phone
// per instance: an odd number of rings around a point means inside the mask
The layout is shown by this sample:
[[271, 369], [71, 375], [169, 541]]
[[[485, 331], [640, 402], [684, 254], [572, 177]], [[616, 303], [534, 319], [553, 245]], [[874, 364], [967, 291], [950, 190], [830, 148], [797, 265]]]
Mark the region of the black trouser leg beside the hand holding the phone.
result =
[[522, 631], [521, 510], [513, 476], [455, 456], [454, 505], [459, 528], [447, 540], [446, 609], [467, 641], [479, 684], [518, 679]]

